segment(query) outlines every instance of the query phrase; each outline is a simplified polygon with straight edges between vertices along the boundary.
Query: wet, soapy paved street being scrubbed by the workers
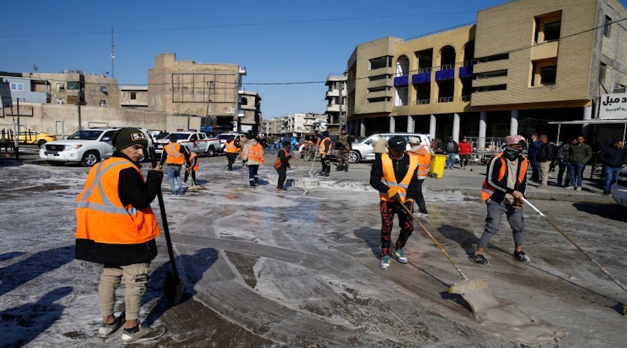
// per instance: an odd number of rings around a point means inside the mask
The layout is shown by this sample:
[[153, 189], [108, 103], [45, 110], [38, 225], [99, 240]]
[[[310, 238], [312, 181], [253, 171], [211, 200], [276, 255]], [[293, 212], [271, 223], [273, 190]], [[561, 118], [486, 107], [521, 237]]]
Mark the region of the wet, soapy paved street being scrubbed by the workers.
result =
[[[266, 163], [271, 159], [267, 155]], [[295, 164], [304, 180], [293, 165], [293, 181], [279, 195], [269, 165], [261, 169], [261, 187], [251, 191], [242, 172], [225, 170], [224, 157], [201, 158], [199, 179], [206, 189], [165, 196], [186, 288], [182, 303], [169, 308], [162, 298], [169, 265], [159, 237], [140, 316], [146, 325], [168, 328], [162, 346], [204, 346], [209, 340], [217, 346], [513, 345], [502, 326], [475, 321], [460, 298], [446, 293], [459, 278], [418, 226], [405, 248], [410, 263], [378, 268], [380, 216], [369, 164], [322, 179], [309, 177], [311, 162]], [[430, 214], [420, 216], [458, 266], [471, 279], [486, 278], [501, 303], [555, 326], [554, 337], [538, 345], [621, 345], [626, 319], [615, 306], [627, 301], [626, 294], [531, 209], [525, 209], [531, 264], [511, 257], [505, 222], [486, 251], [492, 265], [467, 260], [485, 219], [479, 201], [485, 167], [472, 169], [429, 178]], [[100, 267], [73, 260], [74, 202], [87, 171], [40, 161], [0, 167], [0, 332], [9, 345], [119, 345], [94, 336]], [[169, 191], [167, 180], [163, 189]], [[465, 189], [476, 194], [465, 196]], [[598, 191], [589, 183], [587, 189]], [[611, 198], [589, 191], [575, 195], [551, 187], [552, 200], [534, 203], [626, 280], [627, 214]], [[158, 215], [156, 202], [153, 209]], [[395, 227], [393, 239], [397, 235]]]

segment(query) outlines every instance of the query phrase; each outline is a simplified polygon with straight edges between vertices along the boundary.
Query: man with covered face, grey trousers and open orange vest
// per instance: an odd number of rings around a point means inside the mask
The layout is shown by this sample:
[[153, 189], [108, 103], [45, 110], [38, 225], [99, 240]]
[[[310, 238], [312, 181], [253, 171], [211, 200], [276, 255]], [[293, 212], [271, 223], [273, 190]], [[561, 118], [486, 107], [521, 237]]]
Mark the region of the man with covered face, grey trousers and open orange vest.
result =
[[520, 135], [507, 136], [505, 141], [505, 150], [493, 157], [488, 164], [486, 181], [481, 189], [481, 200], [486, 202], [488, 217], [477, 250], [469, 256], [471, 261], [484, 266], [490, 262], [483, 256], [483, 250], [498, 232], [503, 214], [507, 216], [513, 232], [516, 246], [513, 257], [520, 262], [530, 261], [529, 256], [522, 251], [525, 237], [522, 198], [527, 188], [529, 161], [520, 153], [527, 147], [527, 141]]

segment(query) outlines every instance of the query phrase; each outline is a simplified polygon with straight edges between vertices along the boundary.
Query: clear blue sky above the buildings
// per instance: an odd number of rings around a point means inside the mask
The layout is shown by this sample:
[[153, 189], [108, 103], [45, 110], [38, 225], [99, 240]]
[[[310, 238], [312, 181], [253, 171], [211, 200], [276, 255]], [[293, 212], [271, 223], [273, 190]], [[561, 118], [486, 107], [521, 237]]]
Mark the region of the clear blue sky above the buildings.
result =
[[[120, 84], [146, 84], [154, 57], [165, 52], [176, 53], [177, 60], [243, 65], [245, 84], [323, 81], [346, 69], [359, 43], [474, 22], [477, 10], [504, 2], [8, 1], [2, 6], [0, 70], [32, 72], [36, 64], [38, 72], [107, 72], [114, 26]], [[412, 17], [386, 17], [398, 15]], [[371, 18], [346, 19], [355, 17]], [[67, 33], [79, 35], [57, 35]], [[325, 110], [323, 84], [245, 88], [261, 94], [265, 119]]]

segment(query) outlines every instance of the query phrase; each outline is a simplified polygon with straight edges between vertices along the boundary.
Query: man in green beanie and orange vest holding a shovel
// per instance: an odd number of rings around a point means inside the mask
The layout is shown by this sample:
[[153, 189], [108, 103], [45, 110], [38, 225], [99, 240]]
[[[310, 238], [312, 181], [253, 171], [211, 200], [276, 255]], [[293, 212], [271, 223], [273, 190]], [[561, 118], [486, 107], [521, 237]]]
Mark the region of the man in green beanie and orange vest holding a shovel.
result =
[[[91, 168], [77, 198], [76, 258], [103, 264], [98, 286], [102, 325], [97, 335], [107, 338], [123, 324], [123, 342], [157, 338], [163, 330], [139, 325], [141, 296], [150, 279], [150, 261], [157, 255], [160, 235], [150, 209], [161, 187], [161, 166], [150, 168], [144, 182], [139, 159], [148, 141], [136, 128], [123, 128], [111, 137], [113, 157]], [[114, 317], [116, 288], [125, 284], [125, 318]]]

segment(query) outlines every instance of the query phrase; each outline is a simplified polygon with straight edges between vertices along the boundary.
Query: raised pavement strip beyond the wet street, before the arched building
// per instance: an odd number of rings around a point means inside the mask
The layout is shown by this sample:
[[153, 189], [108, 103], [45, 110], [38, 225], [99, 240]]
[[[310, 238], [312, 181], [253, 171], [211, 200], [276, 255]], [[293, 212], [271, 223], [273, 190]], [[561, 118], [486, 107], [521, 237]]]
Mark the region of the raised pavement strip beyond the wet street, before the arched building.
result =
[[[297, 164], [300, 167], [302, 177], [307, 189], [313, 189], [315, 187], [320, 188], [345, 188], [345, 189], [372, 189], [370, 187], [370, 168], [369, 163], [359, 163], [350, 166], [348, 173], [343, 171], [335, 171], [335, 163], [332, 163], [330, 177], [318, 176], [320, 171], [320, 163], [314, 164], [314, 176], [310, 177], [311, 162], [302, 161], [297, 159], [297, 162], [292, 161], [292, 169], [288, 171], [288, 179], [293, 179], [293, 186], [302, 187], [302, 180], [298, 177], [295, 170]], [[424, 189], [431, 191], [459, 191], [465, 196], [470, 198], [477, 198], [481, 196], [481, 184], [486, 178], [487, 166], [468, 166], [468, 169], [463, 171], [459, 168], [453, 170], [444, 170], [444, 176], [441, 179], [433, 179], [428, 177], [424, 182]], [[529, 199], [541, 199], [541, 200], [560, 200], [577, 203], [604, 203], [612, 204], [614, 199], [611, 196], [603, 196], [603, 189], [600, 189], [600, 180], [589, 180], [591, 166], [586, 166], [584, 173], [584, 180], [582, 185], [582, 191], [575, 191], [573, 189], [564, 189], [563, 187], [557, 187], [556, 181], [557, 172], [550, 173], [549, 186], [547, 189], [536, 189], [539, 184], [535, 182], [527, 183], [527, 191], [525, 197]], [[268, 173], [268, 172], [266, 172]], [[274, 173], [273, 173], [274, 174]], [[531, 171], [529, 171], [527, 177], [531, 177]], [[276, 184], [277, 175], [269, 175], [268, 181]]]

